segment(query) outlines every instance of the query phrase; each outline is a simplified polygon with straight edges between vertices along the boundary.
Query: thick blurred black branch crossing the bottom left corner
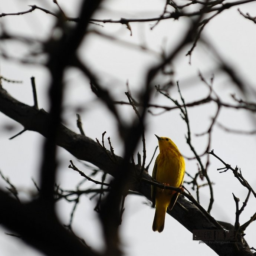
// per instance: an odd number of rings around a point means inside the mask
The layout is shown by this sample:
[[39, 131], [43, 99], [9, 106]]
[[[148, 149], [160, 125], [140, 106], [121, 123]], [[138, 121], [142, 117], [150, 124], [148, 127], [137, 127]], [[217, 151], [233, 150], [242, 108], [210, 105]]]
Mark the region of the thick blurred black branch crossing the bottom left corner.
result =
[[1, 224], [46, 255], [98, 255], [66, 230], [41, 202], [21, 204], [0, 190], [0, 205]]

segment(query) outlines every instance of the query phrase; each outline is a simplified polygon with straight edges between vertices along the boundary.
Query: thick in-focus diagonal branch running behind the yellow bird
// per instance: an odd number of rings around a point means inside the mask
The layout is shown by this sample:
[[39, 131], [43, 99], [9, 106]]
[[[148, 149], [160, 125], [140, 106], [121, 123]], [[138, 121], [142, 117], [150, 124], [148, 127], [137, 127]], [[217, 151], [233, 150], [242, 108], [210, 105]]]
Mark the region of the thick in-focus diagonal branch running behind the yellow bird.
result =
[[[43, 136], [47, 137], [49, 114], [42, 109], [37, 110], [32, 106], [28, 106], [17, 101], [2, 88], [0, 88], [0, 111], [22, 124], [28, 130], [39, 132]], [[59, 125], [56, 143], [78, 159], [88, 161], [98, 166], [106, 173], [109, 173], [114, 177], [116, 176], [116, 166], [121, 163], [122, 158], [116, 156], [116, 161], [112, 161], [112, 153], [107, 150], [102, 150], [98, 143], [90, 138], [76, 134], [64, 125]], [[132, 165], [130, 165], [130, 171], [134, 173], [135, 176], [129, 188], [140, 192], [148, 198], [148, 200], [151, 200], [150, 184], [141, 182], [140, 178], [138, 178], [141, 173], [141, 167], [135, 166], [133, 168]], [[151, 181], [151, 176], [148, 175], [147, 172], [143, 172], [142, 177]], [[6, 197], [5, 200], [7, 200]], [[180, 204], [175, 205], [171, 213], [168, 213], [190, 232], [194, 229], [217, 229], [217, 227], [211, 223], [211, 221], [209, 221], [209, 219], [196, 206], [194, 206], [193, 203], [187, 201], [182, 196], [180, 196], [178, 202]], [[4, 202], [0, 203], [1, 205], [6, 205]], [[12, 209], [13, 208], [11, 207], [10, 211], [12, 211]], [[16, 212], [18, 212], [18, 210]], [[193, 219], [193, 221], [191, 221], [191, 219]], [[17, 230], [17, 227], [10, 226], [10, 223], [6, 223], [5, 221], [2, 221], [2, 223], [9, 226], [10, 229]], [[219, 255], [224, 255], [223, 252], [229, 252], [229, 255], [252, 255], [248, 248], [243, 247], [242, 244], [239, 244], [240, 253], [237, 253], [235, 244], [208, 244], [208, 246]]]

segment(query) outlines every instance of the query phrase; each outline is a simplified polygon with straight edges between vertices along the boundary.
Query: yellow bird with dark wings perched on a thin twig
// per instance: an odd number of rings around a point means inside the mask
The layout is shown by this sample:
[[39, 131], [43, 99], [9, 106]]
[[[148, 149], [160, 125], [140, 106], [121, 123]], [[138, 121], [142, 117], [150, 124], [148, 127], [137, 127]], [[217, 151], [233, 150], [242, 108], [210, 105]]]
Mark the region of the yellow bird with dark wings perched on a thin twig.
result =
[[[158, 137], [160, 153], [155, 160], [152, 178], [166, 186], [180, 187], [183, 184], [185, 174], [185, 161], [174, 142], [167, 137]], [[151, 198], [155, 207], [153, 231], [164, 230], [164, 220], [167, 207], [173, 206], [180, 193], [170, 189], [161, 189], [151, 186]]]

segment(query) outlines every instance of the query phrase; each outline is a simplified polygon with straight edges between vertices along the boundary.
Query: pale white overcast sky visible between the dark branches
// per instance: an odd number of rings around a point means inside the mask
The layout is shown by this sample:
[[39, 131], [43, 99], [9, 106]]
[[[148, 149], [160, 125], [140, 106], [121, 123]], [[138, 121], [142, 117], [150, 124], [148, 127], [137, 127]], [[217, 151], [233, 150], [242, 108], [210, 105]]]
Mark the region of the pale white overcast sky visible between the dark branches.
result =
[[[68, 16], [78, 16], [78, 6], [80, 1], [58, 1], [60, 6]], [[109, 0], [103, 1], [101, 10], [96, 14], [101, 19], [119, 19], [157, 17], [164, 8], [165, 0]], [[36, 4], [53, 12], [58, 9], [50, 0], [0, 0], [0, 13], [15, 13], [27, 10], [28, 5]], [[256, 16], [256, 3], [239, 6], [244, 12], [249, 12]], [[171, 10], [171, 8], [170, 8]], [[111, 92], [119, 100], [126, 100], [124, 92], [127, 90], [126, 83], [129, 81], [129, 88], [134, 95], [138, 88], [143, 85], [147, 68], [159, 62], [160, 53], [164, 49], [167, 53], [173, 49], [184, 29], [188, 26], [188, 19], [165, 20], [161, 21], [153, 30], [150, 27], [152, 23], [131, 23], [132, 36], [125, 25], [104, 24], [103, 27], [91, 25], [89, 29], [91, 35], [86, 37], [79, 50], [79, 56], [86, 63], [90, 63], [90, 68], [99, 72], [102, 85], [107, 88], [111, 86]], [[23, 16], [6, 16], [0, 18], [0, 24], [10, 33], [17, 35], [26, 35], [40, 40], [47, 39], [51, 35], [51, 27], [54, 19], [49, 14], [40, 10]], [[99, 31], [106, 35], [115, 36], [120, 41], [112, 41], [95, 35], [93, 31]], [[217, 16], [206, 26], [203, 36], [211, 42], [222, 57], [236, 69], [248, 85], [256, 88], [255, 85], [255, 42], [256, 42], [256, 24], [244, 19], [237, 7], [226, 10]], [[121, 43], [121, 40], [129, 44]], [[138, 46], [145, 46], [148, 50], [142, 51]], [[12, 56], [26, 56], [31, 49], [24, 45], [16, 43], [1, 43], [1, 49], [6, 49]], [[37, 49], [37, 45], [33, 46]], [[203, 73], [209, 80], [211, 73], [216, 67], [216, 58], [210, 52], [210, 49], [202, 44], [194, 50], [192, 63], [189, 65], [188, 58], [185, 56], [189, 47], [183, 50], [182, 54], [174, 62], [175, 76], [174, 81], [180, 81], [180, 88], [186, 102], [192, 102], [204, 98], [207, 93], [207, 87], [198, 78], [198, 72]], [[33, 104], [33, 97], [30, 85], [30, 77], [35, 76], [39, 107], [49, 109], [47, 101], [47, 88], [49, 83], [49, 74], [47, 70], [40, 65], [24, 65], [17, 61], [7, 61], [0, 59], [0, 74], [8, 79], [22, 81], [23, 83], [6, 83], [3, 86], [7, 91], [19, 101], [28, 105]], [[159, 78], [158, 82], [161, 80]], [[157, 81], [156, 81], [157, 82]], [[91, 93], [88, 80], [75, 69], [68, 70], [65, 76], [66, 94], [64, 105], [64, 122], [76, 132], [76, 112], [75, 108], [83, 107], [82, 121], [85, 133], [88, 137], [101, 139], [102, 132], [106, 131], [106, 136], [111, 137], [112, 145], [118, 155], [122, 154], [122, 145], [117, 136], [114, 119], [104, 106]], [[238, 98], [243, 97], [239, 91], [232, 85], [230, 79], [221, 73], [216, 73], [213, 88], [223, 101], [233, 102], [231, 94], [235, 93]], [[250, 92], [249, 92], [250, 93]], [[170, 90], [173, 98], [180, 98], [177, 88], [174, 86]], [[251, 101], [255, 101], [255, 95], [249, 96]], [[152, 102], [155, 104], [171, 105], [171, 102], [163, 96], [155, 93]], [[234, 103], [234, 102], [233, 102]], [[121, 106], [120, 111], [124, 113], [123, 118], [129, 122], [133, 115], [131, 107]], [[216, 111], [216, 105], [207, 104], [188, 109], [191, 124], [192, 142], [198, 154], [206, 149], [207, 136], [196, 137], [195, 134], [205, 132], [209, 127], [211, 117]], [[160, 113], [160, 109], [152, 109], [154, 113]], [[246, 111], [235, 111], [233, 109], [221, 109], [218, 121], [233, 129], [242, 129], [250, 131], [255, 129], [255, 115]], [[3, 132], [3, 125], [15, 125], [11, 132]], [[182, 154], [186, 157], [192, 157], [192, 152], [186, 144], [185, 134], [186, 125], [180, 117], [178, 110], [165, 112], [162, 115], [148, 115], [147, 120], [147, 163], [149, 163], [157, 140], [154, 134], [164, 137], [170, 137], [178, 146]], [[22, 198], [28, 198], [30, 191], [35, 190], [31, 178], [38, 180], [38, 170], [40, 167], [40, 153], [43, 138], [41, 135], [27, 131], [16, 137], [14, 140], [8, 140], [15, 133], [22, 130], [19, 124], [16, 124], [10, 118], [0, 113], [0, 170], [10, 178], [12, 183], [17, 186]], [[107, 138], [106, 137], [106, 138]], [[255, 135], [235, 135], [224, 132], [217, 126], [214, 127], [211, 149], [218, 154], [224, 161], [233, 167], [238, 165], [242, 169], [244, 177], [250, 182], [252, 187], [256, 187], [256, 138]], [[138, 147], [141, 151], [141, 146]], [[58, 182], [63, 188], [73, 189], [81, 178], [68, 169], [69, 160], [74, 160], [79, 168], [82, 164], [76, 162], [74, 157], [63, 149], [59, 150], [59, 174]], [[205, 161], [205, 158], [203, 158]], [[222, 220], [234, 224], [235, 203], [232, 192], [243, 202], [247, 191], [238, 183], [231, 172], [219, 174], [217, 168], [223, 167], [219, 161], [211, 158], [209, 175], [214, 183], [215, 202], [211, 211], [216, 220]], [[153, 164], [150, 168], [152, 172]], [[197, 164], [194, 160], [186, 160], [186, 170], [190, 174], [197, 172]], [[86, 170], [85, 170], [86, 171]], [[185, 180], [189, 180], [185, 176]], [[0, 180], [1, 187], [6, 186], [3, 180]], [[194, 194], [191, 187], [187, 188]], [[200, 189], [200, 199], [203, 207], [207, 209], [209, 204], [209, 188]], [[121, 239], [123, 250], [127, 256], [153, 256], [153, 255], [190, 255], [207, 254], [216, 255], [204, 244], [192, 240], [192, 234], [181, 226], [175, 219], [167, 216], [165, 219], [165, 229], [162, 233], [152, 232], [152, 220], [154, 210], [143, 204], [146, 200], [143, 197], [128, 196], [125, 204], [125, 213], [121, 226]], [[82, 197], [78, 210], [75, 214], [74, 230], [79, 236], [96, 249], [102, 249], [102, 235], [99, 229], [99, 223], [93, 208], [96, 202], [89, 200], [89, 197]], [[59, 203], [59, 214], [64, 224], [68, 224], [69, 214], [72, 204], [64, 202]], [[255, 213], [255, 198], [251, 197], [249, 204], [241, 216], [241, 223], [247, 221]], [[191, 220], [193, 221], [193, 220]], [[246, 240], [250, 246], [254, 246], [255, 223], [252, 223], [246, 230]], [[24, 245], [19, 239], [6, 236], [8, 232], [0, 226], [0, 256], [13, 255], [41, 255], [39, 252]]]

